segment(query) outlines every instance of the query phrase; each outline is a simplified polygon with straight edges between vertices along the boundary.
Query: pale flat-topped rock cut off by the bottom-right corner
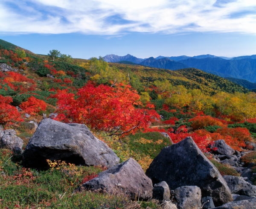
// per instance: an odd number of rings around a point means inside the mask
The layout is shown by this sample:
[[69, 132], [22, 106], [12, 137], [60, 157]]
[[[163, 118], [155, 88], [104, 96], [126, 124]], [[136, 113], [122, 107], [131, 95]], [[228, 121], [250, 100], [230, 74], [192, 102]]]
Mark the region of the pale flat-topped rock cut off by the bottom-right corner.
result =
[[256, 198], [229, 202], [213, 209], [256, 209]]

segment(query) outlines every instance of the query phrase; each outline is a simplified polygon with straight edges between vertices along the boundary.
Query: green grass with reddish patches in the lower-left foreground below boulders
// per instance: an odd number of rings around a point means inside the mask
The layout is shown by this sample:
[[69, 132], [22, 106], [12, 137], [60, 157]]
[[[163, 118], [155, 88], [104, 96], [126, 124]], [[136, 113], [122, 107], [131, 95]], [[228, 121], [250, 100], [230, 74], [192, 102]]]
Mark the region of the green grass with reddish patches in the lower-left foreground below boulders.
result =
[[74, 192], [99, 167], [57, 165], [47, 171], [23, 168], [12, 151], [0, 150], [0, 208], [159, 208], [155, 201], [133, 202], [124, 195]]

